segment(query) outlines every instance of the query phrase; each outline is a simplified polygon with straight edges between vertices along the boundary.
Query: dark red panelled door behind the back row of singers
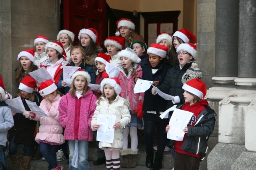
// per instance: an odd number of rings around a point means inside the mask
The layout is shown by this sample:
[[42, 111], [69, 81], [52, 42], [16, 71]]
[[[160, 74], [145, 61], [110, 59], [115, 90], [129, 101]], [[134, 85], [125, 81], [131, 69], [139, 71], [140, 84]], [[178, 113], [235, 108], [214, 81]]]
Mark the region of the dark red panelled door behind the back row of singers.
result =
[[78, 45], [78, 34], [82, 28], [98, 31], [100, 46], [106, 38], [106, 0], [64, 0], [63, 27], [75, 34], [74, 45]]

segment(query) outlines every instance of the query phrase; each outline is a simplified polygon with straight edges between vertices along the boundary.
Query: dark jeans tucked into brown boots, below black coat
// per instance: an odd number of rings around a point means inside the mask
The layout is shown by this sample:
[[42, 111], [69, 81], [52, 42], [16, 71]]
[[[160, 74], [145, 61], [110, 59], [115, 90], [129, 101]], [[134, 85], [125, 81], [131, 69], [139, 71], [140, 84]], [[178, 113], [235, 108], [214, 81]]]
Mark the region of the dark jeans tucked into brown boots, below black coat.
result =
[[[15, 155], [17, 153], [18, 143], [14, 142], [15, 136], [12, 137], [9, 143], [9, 155]], [[32, 156], [34, 144], [24, 144], [23, 155]]]

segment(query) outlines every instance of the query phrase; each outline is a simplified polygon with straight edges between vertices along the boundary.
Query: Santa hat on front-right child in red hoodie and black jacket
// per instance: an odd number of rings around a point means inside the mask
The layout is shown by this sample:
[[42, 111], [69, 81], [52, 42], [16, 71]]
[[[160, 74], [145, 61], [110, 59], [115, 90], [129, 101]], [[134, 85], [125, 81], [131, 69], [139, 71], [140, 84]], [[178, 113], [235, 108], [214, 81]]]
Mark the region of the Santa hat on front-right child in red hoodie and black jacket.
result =
[[192, 79], [186, 82], [182, 89], [198, 96], [200, 99], [204, 98], [207, 92], [206, 84], [200, 79]]

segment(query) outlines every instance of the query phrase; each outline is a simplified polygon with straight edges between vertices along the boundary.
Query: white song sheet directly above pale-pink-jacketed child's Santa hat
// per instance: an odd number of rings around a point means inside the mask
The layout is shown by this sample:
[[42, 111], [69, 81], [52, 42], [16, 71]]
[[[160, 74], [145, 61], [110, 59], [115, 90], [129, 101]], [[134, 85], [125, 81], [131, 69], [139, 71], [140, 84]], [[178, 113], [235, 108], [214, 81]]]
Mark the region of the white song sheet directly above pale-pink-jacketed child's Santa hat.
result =
[[33, 77], [33, 79], [35, 79], [36, 81], [38, 81], [39, 83], [42, 83], [43, 81], [52, 79], [52, 81], [54, 82], [54, 79], [52, 78], [52, 76], [48, 73], [48, 71], [46, 70], [45, 67], [41, 67], [40, 69], [37, 69], [35, 71], [32, 71], [30, 73], [28, 73], [31, 77]]

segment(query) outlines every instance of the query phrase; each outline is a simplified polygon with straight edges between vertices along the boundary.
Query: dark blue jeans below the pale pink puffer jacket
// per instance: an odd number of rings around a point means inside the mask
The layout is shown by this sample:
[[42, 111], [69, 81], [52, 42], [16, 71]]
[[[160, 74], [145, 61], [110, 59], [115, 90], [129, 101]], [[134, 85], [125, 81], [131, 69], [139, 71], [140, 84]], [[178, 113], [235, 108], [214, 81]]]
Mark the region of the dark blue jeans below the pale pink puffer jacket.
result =
[[56, 168], [58, 166], [56, 152], [58, 151], [59, 145], [51, 145], [48, 143], [40, 142], [39, 147], [41, 154], [49, 164], [48, 170]]

